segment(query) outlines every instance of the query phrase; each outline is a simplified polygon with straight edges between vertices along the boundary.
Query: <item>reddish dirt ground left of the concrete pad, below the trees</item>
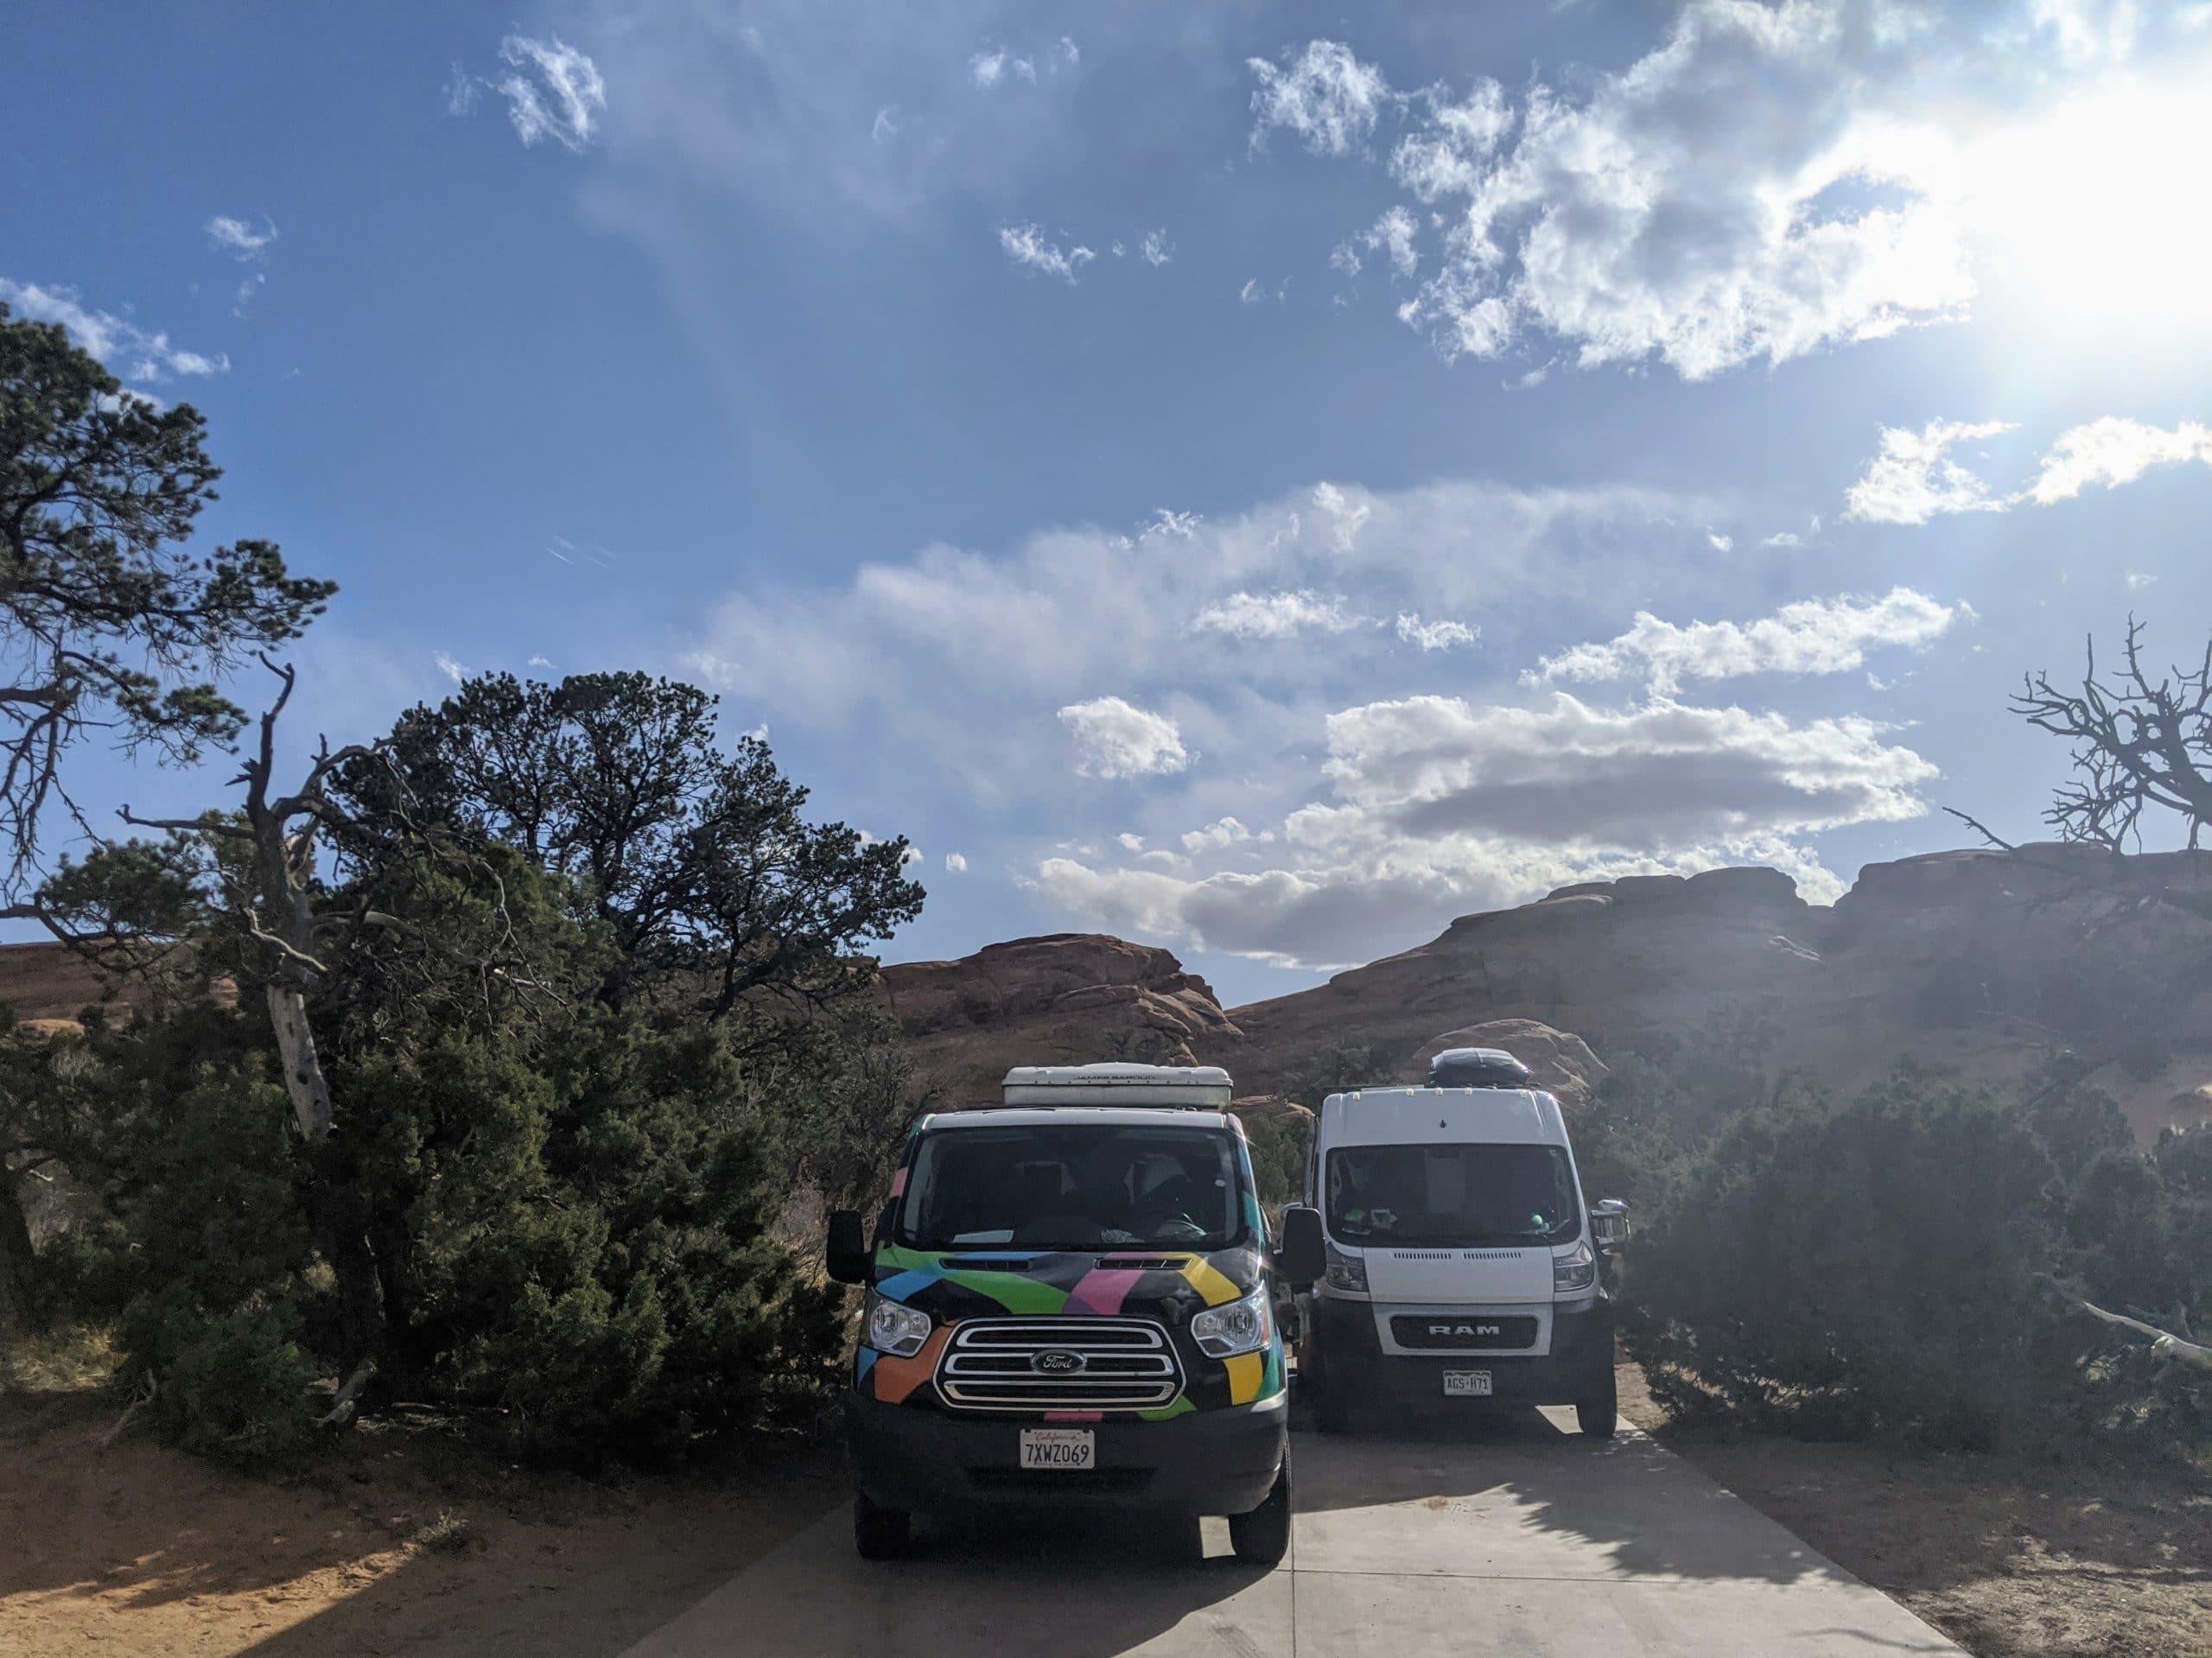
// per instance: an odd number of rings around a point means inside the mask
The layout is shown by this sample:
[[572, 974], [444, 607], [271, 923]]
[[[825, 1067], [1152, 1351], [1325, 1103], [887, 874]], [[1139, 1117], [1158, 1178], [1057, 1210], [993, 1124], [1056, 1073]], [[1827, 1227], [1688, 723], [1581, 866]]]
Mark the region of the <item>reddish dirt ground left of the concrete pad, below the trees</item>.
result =
[[272, 1486], [102, 1450], [115, 1415], [0, 1397], [9, 1658], [617, 1654], [843, 1494], [823, 1455], [599, 1488], [392, 1430]]

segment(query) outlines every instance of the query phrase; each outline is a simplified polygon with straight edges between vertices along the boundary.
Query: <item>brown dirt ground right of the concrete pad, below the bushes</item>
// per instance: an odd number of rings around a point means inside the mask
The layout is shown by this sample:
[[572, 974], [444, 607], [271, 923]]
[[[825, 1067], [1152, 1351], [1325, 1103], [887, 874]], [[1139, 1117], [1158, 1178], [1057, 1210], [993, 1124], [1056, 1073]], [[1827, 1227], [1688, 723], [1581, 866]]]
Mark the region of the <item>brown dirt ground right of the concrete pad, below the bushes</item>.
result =
[[2212, 1658], [2208, 1475], [1690, 1433], [1635, 1366], [1621, 1413], [1978, 1658]]

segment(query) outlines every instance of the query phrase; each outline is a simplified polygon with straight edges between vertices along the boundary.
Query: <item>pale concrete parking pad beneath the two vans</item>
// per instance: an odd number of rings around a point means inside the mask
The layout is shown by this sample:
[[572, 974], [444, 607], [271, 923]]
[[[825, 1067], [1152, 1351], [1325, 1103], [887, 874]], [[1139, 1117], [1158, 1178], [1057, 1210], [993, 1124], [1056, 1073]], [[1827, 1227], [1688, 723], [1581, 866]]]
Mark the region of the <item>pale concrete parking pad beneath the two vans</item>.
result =
[[1221, 1521], [929, 1530], [867, 1565], [832, 1514], [630, 1658], [1958, 1654], [1679, 1457], [1537, 1413], [1294, 1437], [1298, 1521], [1274, 1572]]

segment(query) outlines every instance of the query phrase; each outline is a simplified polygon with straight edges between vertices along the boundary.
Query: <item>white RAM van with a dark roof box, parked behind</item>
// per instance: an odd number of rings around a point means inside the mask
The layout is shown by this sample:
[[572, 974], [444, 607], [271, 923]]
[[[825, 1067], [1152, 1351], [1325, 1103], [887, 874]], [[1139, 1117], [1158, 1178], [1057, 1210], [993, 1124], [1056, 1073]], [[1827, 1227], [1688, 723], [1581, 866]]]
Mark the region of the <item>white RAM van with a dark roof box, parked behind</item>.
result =
[[1323, 1433], [1356, 1404], [1484, 1399], [1571, 1404], [1584, 1433], [1613, 1433], [1599, 1267], [1626, 1207], [1584, 1207], [1559, 1101], [1513, 1054], [1453, 1048], [1427, 1088], [1329, 1094], [1285, 1234], [1314, 1211], [1325, 1271], [1298, 1302], [1298, 1388]]

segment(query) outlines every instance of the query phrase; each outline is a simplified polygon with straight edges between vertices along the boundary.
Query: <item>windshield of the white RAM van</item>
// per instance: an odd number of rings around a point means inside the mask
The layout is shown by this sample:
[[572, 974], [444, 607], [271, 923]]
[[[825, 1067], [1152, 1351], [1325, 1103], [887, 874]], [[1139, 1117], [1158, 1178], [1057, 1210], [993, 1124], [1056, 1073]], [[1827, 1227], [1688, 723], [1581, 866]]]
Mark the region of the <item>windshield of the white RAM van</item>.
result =
[[1329, 1152], [1329, 1234], [1356, 1245], [1559, 1245], [1582, 1231], [1557, 1145], [1343, 1145]]

